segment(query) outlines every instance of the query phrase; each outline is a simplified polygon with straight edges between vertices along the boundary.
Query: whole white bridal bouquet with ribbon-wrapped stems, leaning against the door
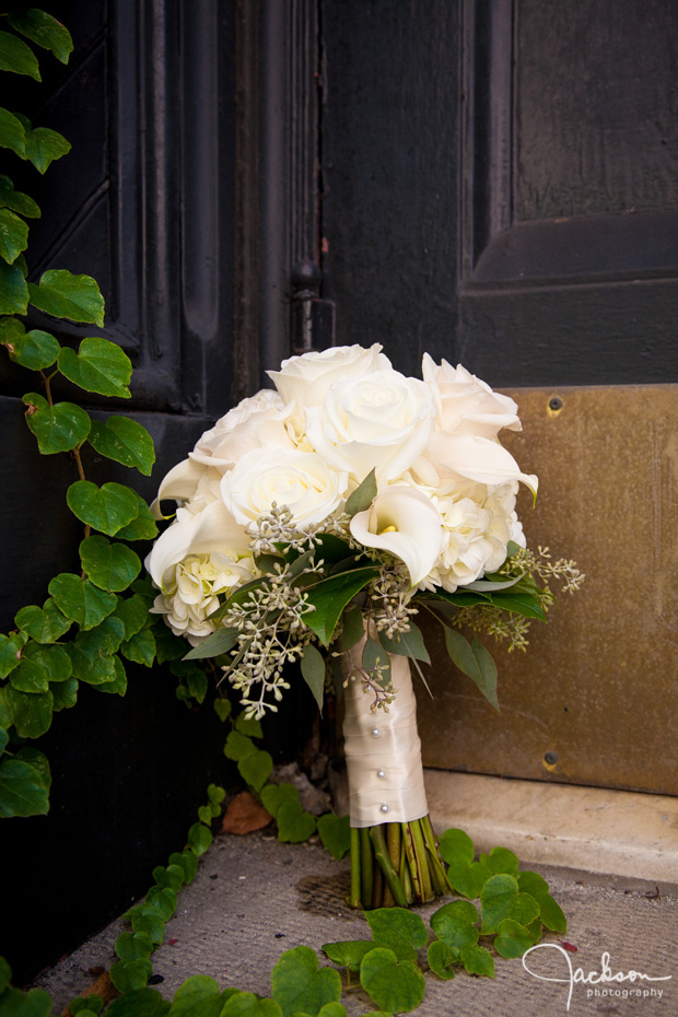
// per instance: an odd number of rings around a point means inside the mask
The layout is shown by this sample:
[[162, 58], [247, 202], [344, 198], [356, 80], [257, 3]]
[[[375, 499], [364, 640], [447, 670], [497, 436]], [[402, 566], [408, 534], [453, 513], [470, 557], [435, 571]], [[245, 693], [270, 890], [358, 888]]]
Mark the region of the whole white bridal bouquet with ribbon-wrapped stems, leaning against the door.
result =
[[147, 560], [154, 610], [188, 657], [215, 658], [249, 716], [294, 680], [320, 708], [325, 689], [344, 690], [351, 902], [405, 907], [448, 888], [423, 786], [410, 665], [421, 674], [429, 656], [414, 618], [443, 626], [454, 664], [496, 705], [477, 633], [524, 648], [548, 578], [573, 589], [581, 576], [526, 549], [515, 500], [537, 478], [498, 440], [521, 430], [516, 404], [463, 366], [425, 354], [422, 379], [406, 377], [375, 344], [269, 375], [276, 390], [230, 410], [161, 484], [156, 514], [178, 507]]

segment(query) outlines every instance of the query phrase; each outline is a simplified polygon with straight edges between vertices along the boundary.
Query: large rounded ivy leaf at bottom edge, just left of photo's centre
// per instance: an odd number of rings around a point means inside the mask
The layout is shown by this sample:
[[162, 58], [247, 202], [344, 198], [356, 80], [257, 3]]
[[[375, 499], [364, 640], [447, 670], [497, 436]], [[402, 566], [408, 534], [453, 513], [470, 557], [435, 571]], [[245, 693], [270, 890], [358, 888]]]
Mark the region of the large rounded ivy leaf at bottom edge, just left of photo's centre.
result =
[[341, 979], [334, 968], [320, 968], [315, 950], [297, 946], [287, 950], [271, 971], [272, 995], [283, 1017], [317, 1014], [341, 998]]

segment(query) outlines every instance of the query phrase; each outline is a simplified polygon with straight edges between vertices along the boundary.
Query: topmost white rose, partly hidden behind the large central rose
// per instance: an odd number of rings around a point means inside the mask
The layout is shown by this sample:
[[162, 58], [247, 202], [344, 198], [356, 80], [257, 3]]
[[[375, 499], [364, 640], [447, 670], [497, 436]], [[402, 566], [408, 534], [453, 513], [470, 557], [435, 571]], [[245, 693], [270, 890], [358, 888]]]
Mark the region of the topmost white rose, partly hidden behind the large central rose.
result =
[[371, 374], [390, 367], [378, 342], [362, 346], [336, 346], [320, 352], [312, 350], [283, 360], [280, 371], [267, 371], [285, 402], [296, 400], [301, 407], [317, 406], [329, 386], [340, 377]]

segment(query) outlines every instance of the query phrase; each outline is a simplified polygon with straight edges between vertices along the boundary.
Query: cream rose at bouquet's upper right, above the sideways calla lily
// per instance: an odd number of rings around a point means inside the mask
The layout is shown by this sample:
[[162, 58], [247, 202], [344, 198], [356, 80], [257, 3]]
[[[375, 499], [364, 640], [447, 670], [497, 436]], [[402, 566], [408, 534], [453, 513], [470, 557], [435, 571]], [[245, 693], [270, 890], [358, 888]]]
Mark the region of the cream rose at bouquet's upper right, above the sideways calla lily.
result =
[[495, 437], [502, 428], [523, 430], [517, 404], [508, 396], [493, 391], [461, 364], [455, 369], [444, 360], [439, 366], [424, 353], [422, 376], [431, 386], [437, 413], [436, 423], [442, 431]]

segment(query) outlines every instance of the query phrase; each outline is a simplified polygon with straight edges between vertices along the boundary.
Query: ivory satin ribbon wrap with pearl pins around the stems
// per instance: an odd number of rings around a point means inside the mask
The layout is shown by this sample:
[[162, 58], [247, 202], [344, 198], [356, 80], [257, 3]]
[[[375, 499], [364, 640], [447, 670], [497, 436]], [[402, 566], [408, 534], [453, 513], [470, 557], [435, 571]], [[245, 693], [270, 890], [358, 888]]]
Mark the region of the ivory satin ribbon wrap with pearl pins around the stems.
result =
[[[355, 646], [358, 659], [363, 643]], [[407, 657], [389, 654], [395, 701], [370, 709], [374, 694], [355, 675], [344, 693], [343, 737], [352, 827], [410, 822], [429, 814], [417, 730], [417, 701]]]

